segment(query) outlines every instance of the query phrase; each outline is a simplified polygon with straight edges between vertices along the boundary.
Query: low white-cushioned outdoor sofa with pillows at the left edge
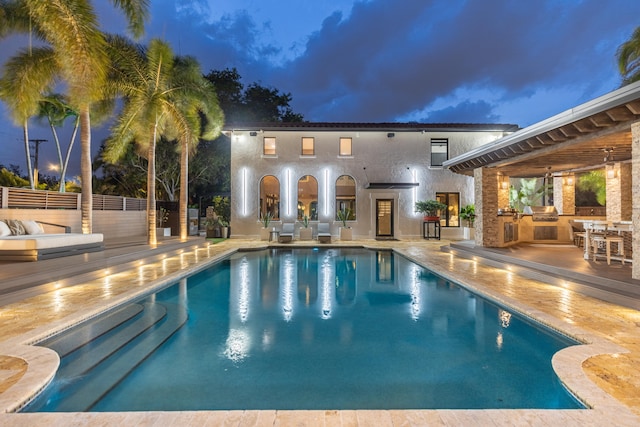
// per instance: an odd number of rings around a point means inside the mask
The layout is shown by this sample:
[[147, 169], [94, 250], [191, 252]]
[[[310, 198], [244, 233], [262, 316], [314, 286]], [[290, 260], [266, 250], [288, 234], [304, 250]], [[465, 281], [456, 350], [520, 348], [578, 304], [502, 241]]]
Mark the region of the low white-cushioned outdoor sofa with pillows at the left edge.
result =
[[[62, 233], [47, 233], [47, 228]], [[100, 233], [71, 233], [69, 227], [40, 221], [0, 220], [0, 261], [38, 261], [104, 249]]]

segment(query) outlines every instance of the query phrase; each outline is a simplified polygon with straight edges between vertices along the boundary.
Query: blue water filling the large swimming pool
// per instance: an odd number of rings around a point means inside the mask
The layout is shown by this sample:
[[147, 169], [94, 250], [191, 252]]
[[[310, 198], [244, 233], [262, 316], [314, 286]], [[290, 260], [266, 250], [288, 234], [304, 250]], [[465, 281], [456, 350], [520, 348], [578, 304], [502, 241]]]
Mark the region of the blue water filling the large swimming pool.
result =
[[241, 252], [126, 311], [43, 343], [69, 354], [26, 410], [583, 407], [575, 342], [389, 251]]

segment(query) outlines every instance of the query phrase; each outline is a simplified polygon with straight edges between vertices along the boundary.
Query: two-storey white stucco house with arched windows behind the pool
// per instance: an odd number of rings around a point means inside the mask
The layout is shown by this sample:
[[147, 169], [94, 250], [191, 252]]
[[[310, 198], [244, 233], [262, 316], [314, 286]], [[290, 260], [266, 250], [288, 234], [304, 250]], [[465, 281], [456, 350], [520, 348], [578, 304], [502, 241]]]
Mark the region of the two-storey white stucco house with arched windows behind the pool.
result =
[[329, 223], [349, 212], [354, 238], [423, 235], [418, 200], [438, 199], [443, 237], [462, 236], [461, 206], [474, 201], [473, 178], [442, 164], [514, 131], [505, 124], [271, 123], [230, 124], [231, 234], [257, 238], [261, 216], [269, 228]]

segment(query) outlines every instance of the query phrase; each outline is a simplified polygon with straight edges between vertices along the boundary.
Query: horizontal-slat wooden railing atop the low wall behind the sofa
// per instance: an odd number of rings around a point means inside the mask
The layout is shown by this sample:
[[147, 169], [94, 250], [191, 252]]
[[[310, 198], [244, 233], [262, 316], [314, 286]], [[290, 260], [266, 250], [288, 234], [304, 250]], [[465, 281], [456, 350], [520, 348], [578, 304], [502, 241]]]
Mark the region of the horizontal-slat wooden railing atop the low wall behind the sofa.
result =
[[[80, 209], [79, 193], [29, 190], [15, 187], [0, 187], [1, 209]], [[94, 211], [144, 211], [146, 199], [120, 196], [93, 195]]]

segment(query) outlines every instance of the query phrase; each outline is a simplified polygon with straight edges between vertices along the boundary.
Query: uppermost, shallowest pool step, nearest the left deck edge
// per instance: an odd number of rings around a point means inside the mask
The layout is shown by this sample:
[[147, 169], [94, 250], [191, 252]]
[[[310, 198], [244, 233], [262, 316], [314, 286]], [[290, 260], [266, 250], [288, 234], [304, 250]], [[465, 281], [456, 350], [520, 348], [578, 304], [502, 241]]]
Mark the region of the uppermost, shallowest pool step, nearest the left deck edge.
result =
[[58, 353], [60, 357], [64, 357], [138, 315], [143, 309], [144, 307], [141, 304], [127, 305], [104, 317], [91, 320], [69, 332], [42, 341], [38, 345], [48, 347]]

